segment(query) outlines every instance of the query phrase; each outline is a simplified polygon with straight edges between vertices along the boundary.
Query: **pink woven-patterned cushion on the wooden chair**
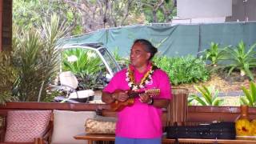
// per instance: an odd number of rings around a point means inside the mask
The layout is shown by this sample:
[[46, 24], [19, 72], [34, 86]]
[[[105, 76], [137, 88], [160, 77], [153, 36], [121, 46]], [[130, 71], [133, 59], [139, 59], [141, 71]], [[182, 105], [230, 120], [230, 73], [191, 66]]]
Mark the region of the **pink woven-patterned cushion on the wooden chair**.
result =
[[42, 137], [51, 110], [13, 110], [7, 114], [5, 142], [34, 142]]

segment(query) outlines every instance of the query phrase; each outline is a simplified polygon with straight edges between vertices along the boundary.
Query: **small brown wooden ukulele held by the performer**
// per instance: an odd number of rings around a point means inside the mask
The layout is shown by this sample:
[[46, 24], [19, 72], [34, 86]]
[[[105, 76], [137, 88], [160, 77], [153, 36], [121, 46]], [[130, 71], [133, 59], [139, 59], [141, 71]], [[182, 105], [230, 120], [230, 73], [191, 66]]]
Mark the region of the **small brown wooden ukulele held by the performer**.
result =
[[140, 90], [140, 91], [134, 91], [134, 90], [129, 90], [128, 91], [128, 99], [125, 102], [119, 102], [119, 101], [114, 101], [110, 104], [112, 110], [114, 111], [120, 111], [126, 106], [133, 106], [134, 105], [134, 98], [138, 97], [139, 94], [149, 94], [150, 96], [157, 96], [160, 94], [160, 89], [150, 89], [150, 90]]

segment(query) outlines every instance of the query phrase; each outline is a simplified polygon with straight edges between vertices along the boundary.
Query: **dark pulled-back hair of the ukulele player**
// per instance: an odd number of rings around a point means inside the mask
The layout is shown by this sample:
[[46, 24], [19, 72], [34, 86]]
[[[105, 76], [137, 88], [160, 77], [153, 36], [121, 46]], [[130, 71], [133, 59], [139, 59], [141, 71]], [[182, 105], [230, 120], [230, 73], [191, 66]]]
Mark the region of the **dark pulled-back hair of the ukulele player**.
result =
[[156, 54], [158, 52], [158, 49], [156, 47], [154, 47], [152, 45], [152, 43], [146, 39], [136, 39], [134, 41], [134, 44], [137, 42], [139, 42], [145, 46], [146, 52], [150, 53], [150, 59], [152, 59], [154, 57], [154, 54]]

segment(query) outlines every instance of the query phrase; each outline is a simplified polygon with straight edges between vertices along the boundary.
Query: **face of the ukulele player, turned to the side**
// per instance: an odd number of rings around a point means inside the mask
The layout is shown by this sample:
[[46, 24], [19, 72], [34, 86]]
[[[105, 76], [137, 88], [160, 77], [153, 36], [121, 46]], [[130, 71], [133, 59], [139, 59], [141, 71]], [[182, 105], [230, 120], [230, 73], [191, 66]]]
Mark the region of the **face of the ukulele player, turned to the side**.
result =
[[130, 64], [134, 67], [142, 67], [148, 64], [150, 53], [146, 52], [140, 42], [134, 43], [130, 50]]

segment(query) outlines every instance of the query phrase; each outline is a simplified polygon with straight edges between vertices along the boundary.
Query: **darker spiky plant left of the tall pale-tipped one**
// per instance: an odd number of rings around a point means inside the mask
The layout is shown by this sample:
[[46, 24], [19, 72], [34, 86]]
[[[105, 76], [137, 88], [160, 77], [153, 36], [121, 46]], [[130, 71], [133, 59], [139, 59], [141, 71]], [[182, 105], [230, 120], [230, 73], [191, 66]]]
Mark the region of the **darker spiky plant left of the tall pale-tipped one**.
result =
[[15, 82], [15, 95], [20, 101], [36, 101], [40, 90], [42, 67], [39, 66], [39, 50], [43, 48], [39, 34], [35, 30], [24, 32], [25, 38], [19, 39], [14, 56], [19, 68], [18, 79]]

